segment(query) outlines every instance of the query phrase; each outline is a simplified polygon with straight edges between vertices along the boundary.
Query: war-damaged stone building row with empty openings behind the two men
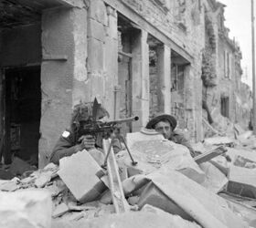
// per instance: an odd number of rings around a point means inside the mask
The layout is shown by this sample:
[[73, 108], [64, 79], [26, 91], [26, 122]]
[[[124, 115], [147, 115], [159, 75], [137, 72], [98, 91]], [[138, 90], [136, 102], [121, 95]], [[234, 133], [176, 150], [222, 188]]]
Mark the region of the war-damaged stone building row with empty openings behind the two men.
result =
[[222, 117], [245, 121], [251, 104], [244, 94], [251, 95], [223, 15], [215, 0], [2, 1], [5, 163], [16, 154], [44, 167], [72, 107], [95, 97], [112, 119], [140, 117], [124, 132], [160, 112], [176, 116], [195, 141]]

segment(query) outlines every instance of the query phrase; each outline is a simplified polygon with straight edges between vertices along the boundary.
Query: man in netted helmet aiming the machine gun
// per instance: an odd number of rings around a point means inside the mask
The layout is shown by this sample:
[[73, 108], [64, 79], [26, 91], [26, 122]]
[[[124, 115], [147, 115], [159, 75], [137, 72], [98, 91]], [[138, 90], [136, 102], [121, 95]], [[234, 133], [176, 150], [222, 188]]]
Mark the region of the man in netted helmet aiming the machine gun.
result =
[[[102, 161], [102, 134], [98, 133], [96, 137], [91, 135], [79, 135], [79, 130], [84, 124], [88, 124], [92, 120], [93, 103], [80, 102], [73, 109], [69, 129], [65, 130], [57, 141], [51, 155], [50, 161], [59, 164], [59, 160], [81, 150], [91, 151], [91, 155], [98, 162]], [[109, 113], [106, 109], [100, 108], [97, 111], [96, 119], [108, 118]], [[119, 140], [113, 142], [113, 150], [117, 152], [121, 150]], [[99, 153], [100, 152], [100, 153]], [[98, 155], [96, 155], [98, 153]], [[97, 159], [97, 158], [98, 159]], [[99, 157], [101, 158], [99, 161]]]

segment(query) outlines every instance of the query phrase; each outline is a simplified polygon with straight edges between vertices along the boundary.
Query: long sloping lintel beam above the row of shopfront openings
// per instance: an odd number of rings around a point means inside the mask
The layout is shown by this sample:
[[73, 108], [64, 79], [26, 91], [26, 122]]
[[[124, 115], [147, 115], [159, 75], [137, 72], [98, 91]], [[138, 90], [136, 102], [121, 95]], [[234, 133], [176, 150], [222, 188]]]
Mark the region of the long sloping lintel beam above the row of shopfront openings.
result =
[[145, 20], [142, 16], [140, 16], [137, 12], [133, 10], [133, 8], [129, 5], [123, 4], [119, 0], [103, 0], [107, 5], [111, 5], [115, 8], [119, 13], [123, 16], [126, 16], [129, 20], [133, 21], [133, 23], [137, 24], [141, 28], [143, 28], [146, 32], [155, 36], [155, 38], [159, 39], [166, 46], [170, 47], [180, 56], [184, 57], [189, 63], [194, 61], [194, 57], [192, 57], [187, 50], [178, 46], [169, 36], [167, 36], [161, 29], [157, 26], [154, 26], [151, 22]]

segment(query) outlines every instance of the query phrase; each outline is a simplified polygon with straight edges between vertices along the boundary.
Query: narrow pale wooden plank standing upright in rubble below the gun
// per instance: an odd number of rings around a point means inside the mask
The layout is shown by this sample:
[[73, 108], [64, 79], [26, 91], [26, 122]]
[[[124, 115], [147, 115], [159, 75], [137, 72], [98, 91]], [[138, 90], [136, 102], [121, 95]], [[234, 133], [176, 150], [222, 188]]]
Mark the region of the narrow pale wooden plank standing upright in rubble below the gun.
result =
[[[110, 145], [110, 140], [103, 140], [103, 150], [105, 155], [107, 155]], [[124, 197], [122, 181], [119, 176], [119, 168], [117, 166], [112, 148], [107, 160], [107, 169], [115, 212], [128, 212], [129, 206]]]

